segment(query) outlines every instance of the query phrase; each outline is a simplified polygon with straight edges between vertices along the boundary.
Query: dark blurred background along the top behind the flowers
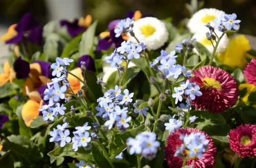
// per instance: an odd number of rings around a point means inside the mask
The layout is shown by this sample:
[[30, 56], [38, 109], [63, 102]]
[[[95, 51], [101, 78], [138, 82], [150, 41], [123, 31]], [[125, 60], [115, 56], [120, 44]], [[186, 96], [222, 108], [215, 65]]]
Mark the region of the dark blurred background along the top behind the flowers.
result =
[[[200, 1], [198, 1], [200, 2]], [[0, 36], [8, 26], [16, 23], [30, 12], [39, 24], [50, 20], [79, 18], [91, 14], [98, 20], [97, 33], [106, 29], [113, 19], [124, 18], [127, 11], [140, 10], [143, 15], [159, 19], [172, 18], [173, 24], [189, 18], [185, 4], [190, 0], [0, 0]], [[203, 8], [216, 8], [226, 13], [237, 13], [242, 20], [239, 33], [256, 36], [255, 0], [209, 0]], [[1, 42], [0, 55], [5, 54], [6, 46]], [[1, 61], [2, 62], [2, 61]]]

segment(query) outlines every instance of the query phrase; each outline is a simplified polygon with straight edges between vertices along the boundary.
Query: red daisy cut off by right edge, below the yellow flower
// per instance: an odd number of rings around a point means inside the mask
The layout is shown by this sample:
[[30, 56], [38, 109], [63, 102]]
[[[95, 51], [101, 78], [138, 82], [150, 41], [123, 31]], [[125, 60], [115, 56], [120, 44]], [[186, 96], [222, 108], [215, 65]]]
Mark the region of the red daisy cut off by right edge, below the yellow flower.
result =
[[256, 86], [256, 59], [252, 59], [251, 62], [245, 67], [244, 76], [248, 83]]

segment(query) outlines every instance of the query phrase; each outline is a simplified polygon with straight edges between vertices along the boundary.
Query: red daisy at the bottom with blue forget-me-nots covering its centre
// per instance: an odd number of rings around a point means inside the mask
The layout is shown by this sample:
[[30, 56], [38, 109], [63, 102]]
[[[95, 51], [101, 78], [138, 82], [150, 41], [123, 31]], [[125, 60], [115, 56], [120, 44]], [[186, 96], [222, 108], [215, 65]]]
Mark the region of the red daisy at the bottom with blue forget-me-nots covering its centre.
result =
[[[188, 158], [186, 165], [193, 165], [194, 168], [201, 168], [201, 167], [212, 167], [215, 164], [215, 157], [217, 154], [217, 148], [214, 145], [214, 141], [212, 138], [206, 134], [204, 131], [201, 131], [197, 128], [180, 128], [175, 132], [169, 134], [166, 142], [166, 146], [164, 147], [164, 155], [165, 160], [169, 167], [172, 168], [180, 168], [182, 166], [183, 159], [179, 156], [174, 156], [177, 147], [181, 147], [183, 141], [180, 139], [181, 135], [190, 134], [190, 133], [197, 133], [201, 132], [205, 134], [205, 139], [209, 140], [208, 148], [203, 153], [202, 158]], [[184, 152], [185, 154], [185, 152]]]

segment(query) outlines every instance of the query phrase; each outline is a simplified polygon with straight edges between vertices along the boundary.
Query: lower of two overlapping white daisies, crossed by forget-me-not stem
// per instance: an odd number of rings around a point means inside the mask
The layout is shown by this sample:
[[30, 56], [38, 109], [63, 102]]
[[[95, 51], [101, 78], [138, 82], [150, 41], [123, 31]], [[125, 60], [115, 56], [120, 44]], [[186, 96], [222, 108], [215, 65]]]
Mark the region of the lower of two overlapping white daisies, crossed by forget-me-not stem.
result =
[[[212, 46], [211, 42], [209, 40], [206, 39], [206, 32], [209, 32], [209, 29], [207, 27], [204, 27], [204, 29], [201, 29], [200, 32], [197, 32], [192, 39], [196, 39], [196, 41], [200, 42], [201, 44], [203, 44], [211, 53], [212, 51], [214, 51], [214, 47]], [[215, 33], [220, 37], [222, 35], [222, 32], [219, 32], [218, 30], [215, 30]], [[216, 45], [216, 42], [214, 40], [211, 40], [212, 43], [214, 43], [214, 45]], [[227, 37], [227, 35], [225, 34], [219, 45], [218, 48], [216, 50], [216, 53], [222, 52], [227, 48], [227, 45], [229, 43], [229, 39]]]

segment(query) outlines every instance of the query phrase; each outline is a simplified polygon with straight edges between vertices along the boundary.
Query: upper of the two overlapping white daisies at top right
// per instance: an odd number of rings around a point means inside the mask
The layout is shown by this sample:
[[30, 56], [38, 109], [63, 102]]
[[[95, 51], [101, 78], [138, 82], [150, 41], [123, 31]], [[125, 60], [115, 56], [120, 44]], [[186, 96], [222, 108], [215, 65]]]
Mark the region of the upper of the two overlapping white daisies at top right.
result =
[[212, 20], [219, 18], [221, 14], [225, 12], [218, 9], [201, 9], [197, 11], [188, 21], [187, 27], [191, 33], [200, 32], [201, 29], [207, 22], [211, 23], [213, 26]]

